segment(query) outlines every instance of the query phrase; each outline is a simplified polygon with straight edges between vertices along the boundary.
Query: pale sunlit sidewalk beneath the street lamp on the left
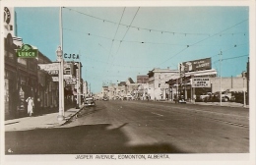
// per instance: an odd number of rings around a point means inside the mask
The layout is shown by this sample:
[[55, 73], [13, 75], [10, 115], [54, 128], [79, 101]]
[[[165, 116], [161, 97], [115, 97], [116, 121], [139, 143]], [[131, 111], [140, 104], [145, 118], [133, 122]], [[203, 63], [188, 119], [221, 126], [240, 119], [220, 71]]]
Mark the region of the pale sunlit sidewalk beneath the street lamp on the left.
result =
[[58, 112], [43, 114], [34, 117], [24, 117], [19, 119], [12, 119], [5, 121], [5, 131], [25, 131], [33, 129], [47, 129], [62, 126], [67, 123], [73, 116], [75, 116], [80, 110], [84, 108], [82, 105], [79, 109], [70, 108], [65, 111], [65, 120], [58, 121]]

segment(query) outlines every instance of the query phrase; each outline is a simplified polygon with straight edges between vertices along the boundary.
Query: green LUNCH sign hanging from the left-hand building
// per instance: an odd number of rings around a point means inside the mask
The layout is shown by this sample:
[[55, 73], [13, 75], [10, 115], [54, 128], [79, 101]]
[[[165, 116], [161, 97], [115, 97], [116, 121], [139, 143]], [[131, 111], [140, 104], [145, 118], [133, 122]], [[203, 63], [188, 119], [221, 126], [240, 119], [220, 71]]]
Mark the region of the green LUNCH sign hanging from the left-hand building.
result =
[[19, 58], [36, 58], [38, 50], [33, 49], [31, 45], [24, 44], [21, 49], [17, 50], [17, 57]]

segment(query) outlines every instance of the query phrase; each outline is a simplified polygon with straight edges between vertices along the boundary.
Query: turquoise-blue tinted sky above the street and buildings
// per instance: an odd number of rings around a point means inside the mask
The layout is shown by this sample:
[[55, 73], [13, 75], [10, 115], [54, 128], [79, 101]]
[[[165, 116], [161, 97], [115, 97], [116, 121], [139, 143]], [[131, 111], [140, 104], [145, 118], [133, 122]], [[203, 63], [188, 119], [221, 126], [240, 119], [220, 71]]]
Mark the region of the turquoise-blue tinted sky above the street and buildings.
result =
[[[60, 8], [15, 11], [17, 36], [56, 61]], [[178, 63], [209, 57], [218, 76], [236, 77], [246, 71], [249, 57], [248, 17], [246, 6], [64, 7], [63, 52], [80, 55], [75, 61], [93, 92], [103, 83], [136, 82], [154, 68], [176, 70]]]

